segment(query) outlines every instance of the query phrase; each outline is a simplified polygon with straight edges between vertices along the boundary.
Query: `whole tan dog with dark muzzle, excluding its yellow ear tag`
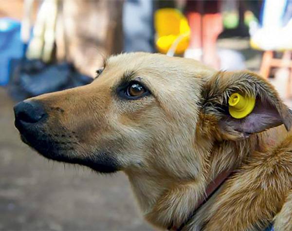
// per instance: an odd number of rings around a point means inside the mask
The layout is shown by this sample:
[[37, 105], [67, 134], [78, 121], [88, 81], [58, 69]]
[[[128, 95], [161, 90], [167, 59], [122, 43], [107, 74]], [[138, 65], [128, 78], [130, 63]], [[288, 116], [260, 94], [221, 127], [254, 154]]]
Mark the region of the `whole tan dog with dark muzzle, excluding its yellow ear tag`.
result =
[[[231, 94], [256, 98], [242, 119]], [[91, 84], [14, 107], [46, 158], [123, 171], [146, 220], [169, 230], [292, 230], [292, 114], [249, 71], [163, 54], [108, 58]]]

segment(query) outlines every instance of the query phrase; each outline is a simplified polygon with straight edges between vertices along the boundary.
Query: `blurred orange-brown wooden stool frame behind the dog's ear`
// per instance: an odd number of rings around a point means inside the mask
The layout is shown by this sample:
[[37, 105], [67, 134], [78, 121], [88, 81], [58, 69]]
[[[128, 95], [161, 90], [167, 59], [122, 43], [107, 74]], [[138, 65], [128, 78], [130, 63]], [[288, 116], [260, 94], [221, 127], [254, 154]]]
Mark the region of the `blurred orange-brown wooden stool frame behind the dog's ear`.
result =
[[292, 51], [284, 51], [281, 58], [274, 57], [274, 51], [265, 51], [263, 53], [262, 63], [260, 66], [260, 75], [265, 79], [269, 78], [270, 70], [275, 68], [289, 68], [290, 75], [287, 84], [287, 97], [292, 97]]

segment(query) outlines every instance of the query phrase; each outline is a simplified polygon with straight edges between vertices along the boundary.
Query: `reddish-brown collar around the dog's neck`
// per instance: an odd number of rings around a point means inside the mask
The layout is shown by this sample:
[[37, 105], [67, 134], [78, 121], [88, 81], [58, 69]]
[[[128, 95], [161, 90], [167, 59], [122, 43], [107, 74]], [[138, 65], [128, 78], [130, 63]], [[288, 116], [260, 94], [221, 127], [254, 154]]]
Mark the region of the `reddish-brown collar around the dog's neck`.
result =
[[189, 215], [187, 220], [184, 221], [183, 224], [180, 225], [180, 227], [171, 226], [171, 227], [168, 228], [168, 230], [170, 230], [170, 231], [181, 231], [183, 229], [183, 227], [196, 215], [197, 211], [201, 208], [201, 206], [204, 205], [211, 198], [211, 196], [215, 194], [217, 189], [219, 189], [219, 187], [227, 180], [227, 178], [229, 178], [229, 176], [231, 175], [232, 172], [233, 171], [231, 171], [231, 170], [221, 172], [217, 176], [217, 178], [215, 178], [207, 186], [207, 188], [206, 188], [206, 197], [202, 197], [198, 201], [193, 213], [191, 213]]

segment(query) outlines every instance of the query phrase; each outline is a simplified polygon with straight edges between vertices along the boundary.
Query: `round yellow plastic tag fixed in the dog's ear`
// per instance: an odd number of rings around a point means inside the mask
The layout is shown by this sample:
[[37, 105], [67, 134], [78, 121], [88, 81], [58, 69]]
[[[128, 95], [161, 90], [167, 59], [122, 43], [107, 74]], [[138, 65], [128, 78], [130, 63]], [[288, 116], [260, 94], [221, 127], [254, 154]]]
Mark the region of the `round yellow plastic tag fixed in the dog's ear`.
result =
[[254, 97], [233, 93], [228, 100], [228, 104], [230, 115], [233, 118], [242, 119], [253, 111], [256, 105], [256, 99]]

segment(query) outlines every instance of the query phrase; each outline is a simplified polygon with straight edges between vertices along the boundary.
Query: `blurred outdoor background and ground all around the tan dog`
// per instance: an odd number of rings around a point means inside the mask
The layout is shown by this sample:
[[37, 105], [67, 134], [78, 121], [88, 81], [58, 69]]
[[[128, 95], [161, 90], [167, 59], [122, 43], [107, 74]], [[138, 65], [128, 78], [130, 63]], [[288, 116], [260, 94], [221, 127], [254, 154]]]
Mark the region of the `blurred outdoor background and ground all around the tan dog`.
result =
[[292, 107], [291, 18], [292, 0], [0, 0], [0, 230], [153, 230], [124, 174], [54, 163], [20, 142], [16, 102], [144, 51], [255, 71]]

